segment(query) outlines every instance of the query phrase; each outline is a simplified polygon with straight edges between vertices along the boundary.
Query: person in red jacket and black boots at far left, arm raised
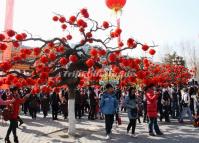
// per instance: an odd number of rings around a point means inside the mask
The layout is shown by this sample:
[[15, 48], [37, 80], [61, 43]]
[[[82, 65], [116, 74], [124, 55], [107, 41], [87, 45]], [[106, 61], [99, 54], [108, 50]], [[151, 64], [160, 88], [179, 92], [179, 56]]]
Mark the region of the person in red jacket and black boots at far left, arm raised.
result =
[[19, 116], [19, 111], [20, 111], [20, 105], [26, 101], [26, 99], [29, 97], [29, 94], [27, 94], [23, 98], [20, 98], [17, 87], [11, 88], [11, 92], [15, 101], [12, 104], [13, 112], [11, 114], [10, 125], [5, 137], [5, 143], [11, 143], [9, 139], [11, 132], [13, 133], [13, 136], [14, 136], [14, 142], [18, 143], [19, 141], [17, 137], [17, 127], [18, 127], [17, 121], [18, 121], [18, 116]]

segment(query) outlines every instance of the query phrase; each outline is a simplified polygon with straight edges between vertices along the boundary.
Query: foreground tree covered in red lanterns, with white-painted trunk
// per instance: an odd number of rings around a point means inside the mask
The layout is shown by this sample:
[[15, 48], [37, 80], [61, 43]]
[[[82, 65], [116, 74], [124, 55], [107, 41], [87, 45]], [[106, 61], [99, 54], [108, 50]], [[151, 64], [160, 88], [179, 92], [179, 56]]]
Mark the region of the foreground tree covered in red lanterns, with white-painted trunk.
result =
[[[39, 47], [22, 48], [12, 59], [0, 63], [0, 85], [31, 87], [32, 94], [50, 93], [52, 90], [59, 92], [62, 86], [66, 86], [69, 93], [69, 134], [74, 134], [76, 89], [89, 85], [88, 82], [91, 81], [97, 83], [105, 68], [121, 76], [120, 86], [146, 81], [145, 78], [151, 74], [149, 67], [152, 63], [146, 58], [133, 59], [123, 56], [122, 51], [140, 47], [154, 55], [156, 51], [152, 47], [156, 46], [142, 44], [133, 38], [114, 42], [123, 32], [122, 29], [108, 21], [97, 22], [91, 19], [85, 8], [68, 18], [55, 15], [52, 20], [60, 24], [63, 36], [45, 40], [12, 29], [0, 34], [2, 51], [6, 50], [9, 44], [19, 48], [30, 41], [41, 43]], [[72, 35], [73, 31], [78, 31], [79, 35]], [[79, 37], [81, 40], [76, 41]], [[72, 43], [72, 39], [76, 42]], [[85, 49], [86, 45], [91, 48]], [[28, 72], [14, 70], [19, 64], [28, 66]], [[93, 73], [95, 74], [92, 75]]]

